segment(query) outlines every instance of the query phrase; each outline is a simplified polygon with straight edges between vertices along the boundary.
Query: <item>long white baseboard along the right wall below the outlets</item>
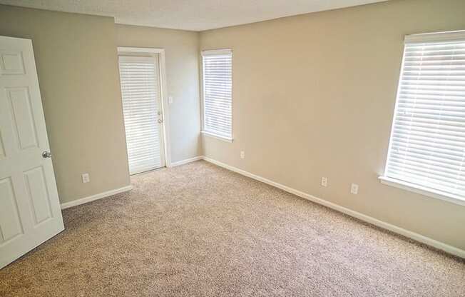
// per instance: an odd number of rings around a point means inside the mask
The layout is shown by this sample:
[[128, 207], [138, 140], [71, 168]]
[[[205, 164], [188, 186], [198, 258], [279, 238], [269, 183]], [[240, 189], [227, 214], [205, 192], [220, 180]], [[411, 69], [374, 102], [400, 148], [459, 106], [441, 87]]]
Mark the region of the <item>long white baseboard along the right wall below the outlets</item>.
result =
[[276, 183], [275, 181], [270, 181], [267, 178], [264, 178], [262, 176], [257, 176], [257, 175], [255, 175], [253, 173], [244, 171], [244, 170], [242, 170], [240, 168], [236, 168], [234, 166], [230, 166], [230, 165], [222, 163], [220, 161], [216, 161], [213, 158], [208, 158], [208, 157], [204, 156], [203, 159], [205, 161], [213, 163], [213, 164], [215, 164], [217, 166], [220, 166], [220, 167], [226, 168], [226, 169], [228, 169], [230, 171], [234, 171], [236, 173], [242, 174], [243, 176], [253, 178], [253, 179], [257, 180], [257, 181], [261, 181], [262, 183], [267, 183], [270, 186], [275, 186], [276, 188], [280, 188], [283, 191], [292, 193], [292, 194], [294, 194], [296, 196], [305, 198], [307, 200], [313, 201], [313, 202], [321, 204], [323, 206], [327, 206], [327, 207], [332, 208], [332, 209], [334, 209], [336, 211], [339, 211], [341, 213], [345, 213], [348, 216], [358, 218], [361, 221], [371, 223], [374, 226], [378, 226], [380, 228], [387, 229], [389, 231], [400, 234], [402, 236], [412, 238], [415, 241], [419, 241], [419, 242], [424, 243], [424, 244], [426, 244], [428, 246], [432, 246], [432, 247], [437, 248], [437, 249], [439, 249], [441, 251], [445, 251], [446, 253], [451, 253], [454, 256], [459, 256], [460, 258], [465, 258], [465, 251], [460, 249], [460, 248], [456, 248], [454, 246], [449, 246], [446, 243], [442, 243], [441, 241], [436, 241], [435, 239], [423, 236], [423, 235], [421, 235], [419, 233], [415, 233], [413, 231], [409, 231], [409, 230], [406, 230], [404, 228], [400, 228], [398, 226], [392, 225], [391, 223], [380, 221], [377, 218], [373, 218], [372, 216], [367, 216], [367, 215], [365, 215], [363, 213], [359, 213], [358, 211], [352, 211], [352, 209], [345, 208], [344, 206], [339, 206], [336, 203], [332, 203], [332, 202], [326, 201], [325, 199], [318, 198], [316, 196], [310, 195], [308, 193], [304, 193], [302, 191], [298, 191], [295, 188], [290, 188], [288, 186], [284, 186], [284, 185], [282, 185], [280, 183]]

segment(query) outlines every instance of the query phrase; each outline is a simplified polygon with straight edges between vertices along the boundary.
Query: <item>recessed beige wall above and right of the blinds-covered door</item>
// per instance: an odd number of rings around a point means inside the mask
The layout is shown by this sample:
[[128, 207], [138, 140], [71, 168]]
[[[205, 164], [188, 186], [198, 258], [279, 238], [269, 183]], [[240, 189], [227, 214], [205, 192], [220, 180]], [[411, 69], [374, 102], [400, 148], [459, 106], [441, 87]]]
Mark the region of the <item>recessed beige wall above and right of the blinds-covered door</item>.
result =
[[118, 46], [165, 49], [171, 161], [200, 156], [198, 32], [116, 25], [116, 33]]

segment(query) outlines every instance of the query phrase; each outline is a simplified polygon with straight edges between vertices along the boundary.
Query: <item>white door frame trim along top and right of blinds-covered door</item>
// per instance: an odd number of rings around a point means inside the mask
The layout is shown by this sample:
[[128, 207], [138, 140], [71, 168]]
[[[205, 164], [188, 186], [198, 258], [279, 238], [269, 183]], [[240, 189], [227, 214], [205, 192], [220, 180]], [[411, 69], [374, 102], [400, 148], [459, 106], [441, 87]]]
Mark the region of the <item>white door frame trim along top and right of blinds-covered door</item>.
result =
[[161, 111], [163, 116], [163, 146], [165, 148], [165, 166], [171, 166], [170, 113], [168, 111], [168, 88], [166, 84], [165, 49], [118, 46], [118, 56], [123, 54], [158, 54], [160, 67]]

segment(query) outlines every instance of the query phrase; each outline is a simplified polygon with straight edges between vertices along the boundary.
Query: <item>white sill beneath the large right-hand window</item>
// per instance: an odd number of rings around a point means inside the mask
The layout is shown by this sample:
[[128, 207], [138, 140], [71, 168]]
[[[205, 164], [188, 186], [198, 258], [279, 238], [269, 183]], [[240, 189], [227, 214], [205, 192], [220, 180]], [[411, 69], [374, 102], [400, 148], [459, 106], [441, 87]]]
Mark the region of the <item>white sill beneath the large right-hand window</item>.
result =
[[390, 178], [387, 176], [379, 176], [379, 181], [384, 183], [388, 186], [394, 186], [396, 188], [402, 188], [407, 191], [411, 191], [414, 193], [419, 193], [424, 196], [433, 197], [436, 199], [441, 199], [444, 201], [448, 201], [451, 203], [459, 204], [461, 206], [465, 206], [465, 199], [461, 198], [460, 196], [456, 196], [451, 193], [445, 193], [442, 191], [434, 190], [432, 188], [426, 188], [425, 186], [419, 186], [414, 183], [409, 183], [407, 181], [400, 181], [399, 179]]

